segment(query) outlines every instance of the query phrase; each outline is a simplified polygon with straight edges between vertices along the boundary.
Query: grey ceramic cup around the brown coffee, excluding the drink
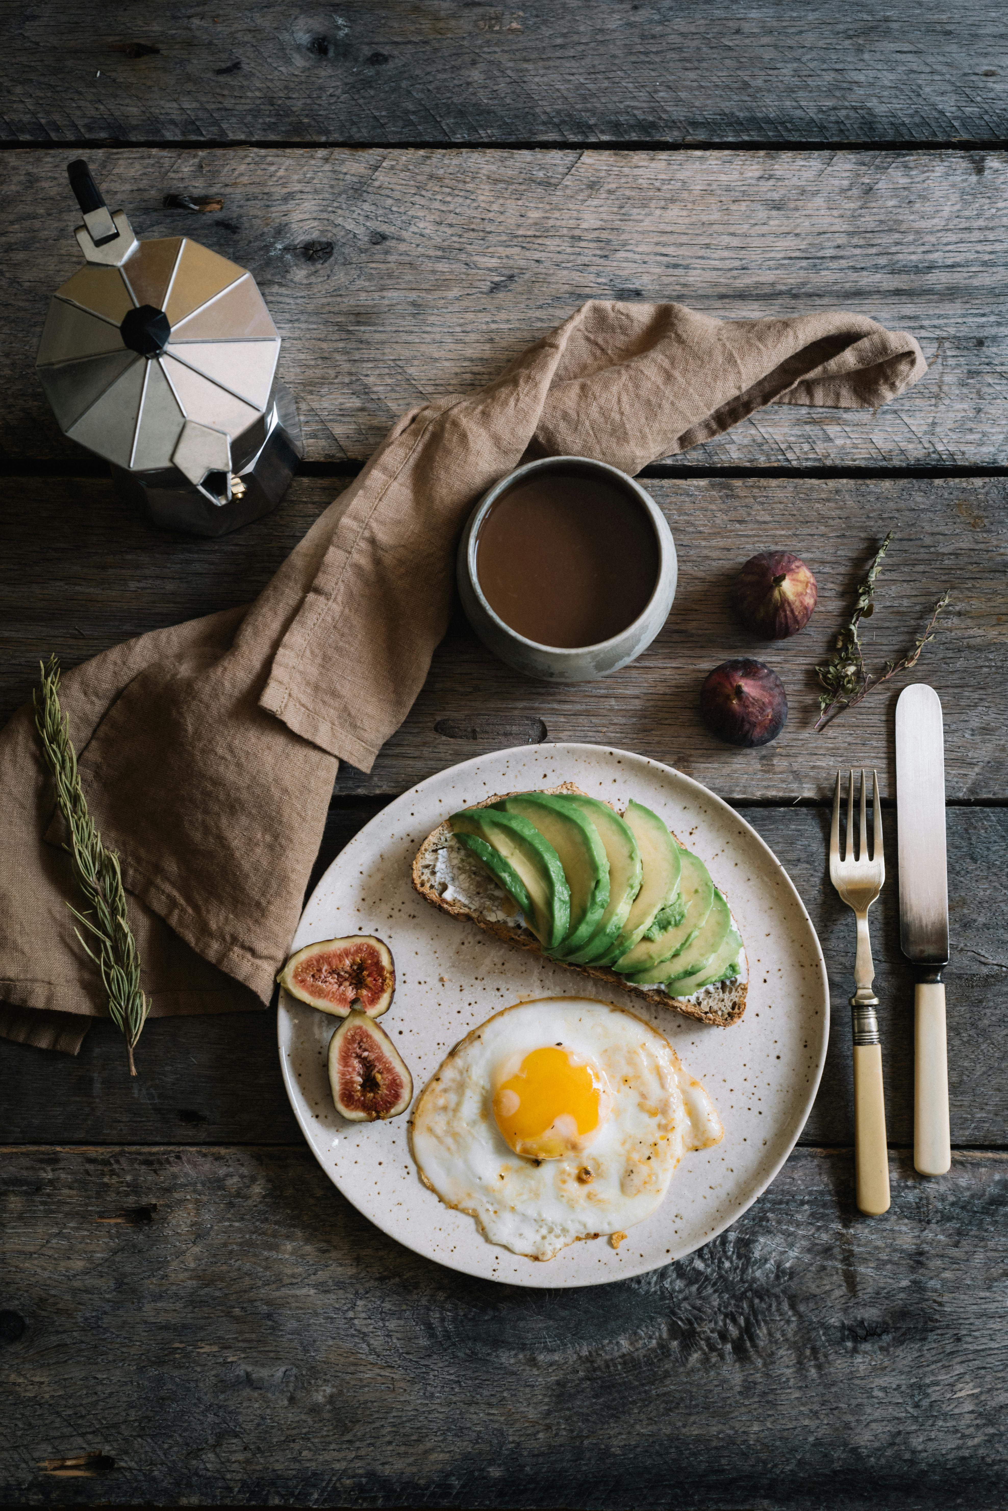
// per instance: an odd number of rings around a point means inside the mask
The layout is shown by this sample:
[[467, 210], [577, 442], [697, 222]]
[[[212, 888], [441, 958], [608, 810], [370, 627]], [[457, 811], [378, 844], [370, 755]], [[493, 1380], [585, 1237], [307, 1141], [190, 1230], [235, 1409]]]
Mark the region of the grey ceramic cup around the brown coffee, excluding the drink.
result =
[[[567, 476], [581, 473], [596, 476], [610, 487], [617, 487], [629, 493], [650, 520], [658, 545], [658, 574], [655, 589], [640, 615], [628, 624], [625, 630], [598, 645], [539, 645], [513, 630], [510, 624], [490, 607], [477, 576], [477, 547], [480, 529], [496, 500], [536, 473], [561, 471]], [[489, 493], [484, 493], [475, 509], [469, 515], [457, 556], [459, 594], [469, 624], [480, 636], [487, 650], [499, 656], [502, 662], [521, 671], [525, 677], [537, 677], [542, 681], [590, 681], [595, 677], [605, 677], [611, 671], [619, 671], [635, 660], [641, 651], [647, 650], [662, 624], [668, 618], [671, 601], [676, 595], [676, 545], [665, 517], [647, 493], [646, 488], [608, 462], [596, 462], [590, 456], [545, 456], [542, 461], [527, 462], [516, 467], [499, 482], [495, 482]]]

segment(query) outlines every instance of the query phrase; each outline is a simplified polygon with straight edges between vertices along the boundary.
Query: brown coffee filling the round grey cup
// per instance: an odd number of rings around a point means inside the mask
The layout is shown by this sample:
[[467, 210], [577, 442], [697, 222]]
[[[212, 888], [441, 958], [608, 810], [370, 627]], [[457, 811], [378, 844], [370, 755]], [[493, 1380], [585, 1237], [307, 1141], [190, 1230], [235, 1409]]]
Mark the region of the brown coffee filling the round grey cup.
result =
[[542, 471], [496, 500], [475, 570], [490, 607], [519, 635], [539, 645], [598, 645], [647, 604], [658, 541], [646, 511], [616, 484]]

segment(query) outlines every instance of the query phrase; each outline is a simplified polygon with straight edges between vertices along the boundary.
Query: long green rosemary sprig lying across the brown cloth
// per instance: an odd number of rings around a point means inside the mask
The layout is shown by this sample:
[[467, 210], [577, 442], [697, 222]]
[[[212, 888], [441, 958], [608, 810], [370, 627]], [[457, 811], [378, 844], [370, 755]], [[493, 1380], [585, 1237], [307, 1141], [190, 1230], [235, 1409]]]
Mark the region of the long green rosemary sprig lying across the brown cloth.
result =
[[109, 997], [109, 1017], [125, 1035], [130, 1074], [136, 1076], [133, 1050], [146, 1020], [149, 1003], [140, 990], [140, 956], [127, 919], [125, 890], [119, 873], [119, 857], [106, 849], [80, 786], [77, 756], [69, 737], [68, 719], [59, 706], [59, 662], [50, 656], [41, 669], [41, 686], [32, 694], [35, 725], [42, 740], [45, 765], [56, 783], [56, 801], [66, 820], [69, 845], [63, 849], [74, 863], [74, 875], [88, 908], [78, 913], [66, 904], [77, 922], [95, 940], [88, 944], [80, 929], [74, 934], [101, 972], [101, 984]]

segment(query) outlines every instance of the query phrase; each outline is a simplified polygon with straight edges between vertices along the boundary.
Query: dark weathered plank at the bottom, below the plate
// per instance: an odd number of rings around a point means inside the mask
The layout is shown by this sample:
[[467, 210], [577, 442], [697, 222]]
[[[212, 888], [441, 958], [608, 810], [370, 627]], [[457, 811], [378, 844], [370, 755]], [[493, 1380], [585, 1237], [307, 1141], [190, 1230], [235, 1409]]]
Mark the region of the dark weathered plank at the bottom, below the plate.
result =
[[850, 1157], [798, 1151], [697, 1254], [573, 1292], [413, 1257], [308, 1151], [0, 1183], [8, 1503], [1003, 1505], [1005, 1154], [901, 1157], [863, 1219]]

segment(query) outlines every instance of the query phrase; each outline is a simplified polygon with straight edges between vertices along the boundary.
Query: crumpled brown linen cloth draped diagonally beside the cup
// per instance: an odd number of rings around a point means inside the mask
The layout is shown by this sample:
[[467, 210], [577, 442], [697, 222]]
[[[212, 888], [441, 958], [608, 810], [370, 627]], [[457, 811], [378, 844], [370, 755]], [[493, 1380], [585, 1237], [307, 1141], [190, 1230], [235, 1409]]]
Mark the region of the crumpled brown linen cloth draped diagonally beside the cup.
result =
[[[874, 408], [925, 370], [913, 337], [863, 316], [723, 322], [592, 301], [486, 388], [403, 416], [255, 603], [68, 672], [63, 710], [121, 855], [151, 1014], [269, 1003], [338, 762], [370, 771], [409, 712], [448, 624], [462, 524], [524, 455], [635, 473], [762, 405]], [[30, 707], [0, 734], [0, 1034], [75, 1053], [104, 1003], [65, 905], [75, 888]]]

